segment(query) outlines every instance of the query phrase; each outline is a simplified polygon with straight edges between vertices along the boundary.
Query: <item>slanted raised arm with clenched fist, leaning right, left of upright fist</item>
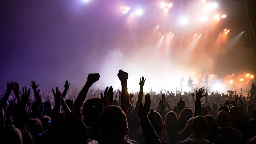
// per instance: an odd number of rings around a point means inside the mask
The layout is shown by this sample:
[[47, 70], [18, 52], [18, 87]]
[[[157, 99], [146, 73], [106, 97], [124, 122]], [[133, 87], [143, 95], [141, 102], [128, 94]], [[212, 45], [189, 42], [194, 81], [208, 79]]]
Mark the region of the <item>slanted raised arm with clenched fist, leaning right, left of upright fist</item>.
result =
[[94, 74], [89, 74], [87, 77], [87, 82], [85, 83], [84, 87], [78, 94], [75, 102], [74, 102], [74, 121], [77, 119], [83, 120], [83, 115], [82, 115], [82, 106], [84, 103], [84, 100], [86, 98], [87, 92], [91, 85], [93, 85], [96, 81], [98, 81], [100, 78], [99, 73], [94, 73]]

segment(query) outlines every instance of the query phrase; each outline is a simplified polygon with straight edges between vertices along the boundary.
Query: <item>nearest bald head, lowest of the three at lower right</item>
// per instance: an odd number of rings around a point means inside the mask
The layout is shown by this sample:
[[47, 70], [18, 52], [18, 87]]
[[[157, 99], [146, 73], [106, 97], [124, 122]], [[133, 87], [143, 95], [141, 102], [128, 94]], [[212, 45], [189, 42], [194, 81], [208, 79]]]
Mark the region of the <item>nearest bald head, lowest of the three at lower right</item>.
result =
[[196, 116], [190, 125], [190, 131], [195, 135], [206, 136], [209, 132], [208, 120], [203, 116]]

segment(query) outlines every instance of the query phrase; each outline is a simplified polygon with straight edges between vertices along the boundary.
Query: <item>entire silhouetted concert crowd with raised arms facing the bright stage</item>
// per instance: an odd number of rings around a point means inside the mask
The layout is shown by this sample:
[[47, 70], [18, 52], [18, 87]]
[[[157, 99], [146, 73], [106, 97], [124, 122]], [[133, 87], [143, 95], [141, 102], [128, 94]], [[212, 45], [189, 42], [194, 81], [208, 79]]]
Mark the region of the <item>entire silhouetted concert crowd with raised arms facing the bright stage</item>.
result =
[[139, 91], [129, 93], [128, 73], [117, 76], [120, 90], [91, 88], [98, 73], [82, 88], [7, 83], [0, 90], [0, 144], [256, 143], [254, 84], [247, 95], [204, 88], [145, 93], [141, 77]]

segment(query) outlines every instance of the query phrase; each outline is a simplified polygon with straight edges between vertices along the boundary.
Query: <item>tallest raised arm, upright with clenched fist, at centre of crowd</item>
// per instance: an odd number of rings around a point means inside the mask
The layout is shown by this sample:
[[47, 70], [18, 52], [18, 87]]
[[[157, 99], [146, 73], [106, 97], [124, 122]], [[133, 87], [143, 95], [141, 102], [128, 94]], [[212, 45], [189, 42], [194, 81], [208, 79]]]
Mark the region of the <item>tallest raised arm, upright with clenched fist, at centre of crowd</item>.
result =
[[128, 79], [128, 73], [124, 72], [122, 70], [119, 70], [117, 74], [121, 86], [122, 86], [122, 93], [121, 93], [121, 108], [127, 114], [127, 111], [129, 109], [129, 93], [127, 88], [127, 79]]

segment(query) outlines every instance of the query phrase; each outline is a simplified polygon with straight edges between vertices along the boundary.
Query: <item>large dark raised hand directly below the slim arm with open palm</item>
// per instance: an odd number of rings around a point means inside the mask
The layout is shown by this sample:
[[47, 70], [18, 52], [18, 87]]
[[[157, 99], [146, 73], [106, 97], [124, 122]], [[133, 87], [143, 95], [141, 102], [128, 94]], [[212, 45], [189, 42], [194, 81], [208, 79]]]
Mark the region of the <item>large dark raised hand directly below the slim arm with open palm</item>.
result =
[[147, 93], [145, 95], [145, 103], [144, 106], [141, 103], [140, 107], [139, 107], [139, 112], [138, 112], [138, 116], [140, 118], [140, 120], [145, 120], [147, 119], [147, 114], [150, 110], [150, 103], [151, 103], [151, 99], [150, 99], [150, 95]]

